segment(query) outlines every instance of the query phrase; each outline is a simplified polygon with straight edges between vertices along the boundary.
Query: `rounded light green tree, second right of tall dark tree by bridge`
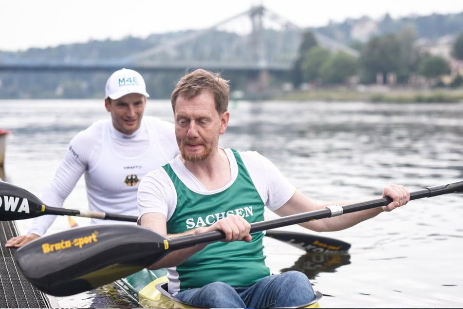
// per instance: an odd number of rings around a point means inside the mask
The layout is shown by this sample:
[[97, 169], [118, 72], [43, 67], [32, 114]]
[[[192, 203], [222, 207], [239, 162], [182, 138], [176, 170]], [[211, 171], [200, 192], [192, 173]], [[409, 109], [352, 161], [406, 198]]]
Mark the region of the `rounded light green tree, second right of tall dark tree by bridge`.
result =
[[358, 60], [344, 52], [332, 54], [321, 66], [320, 76], [325, 83], [339, 84], [357, 74]]

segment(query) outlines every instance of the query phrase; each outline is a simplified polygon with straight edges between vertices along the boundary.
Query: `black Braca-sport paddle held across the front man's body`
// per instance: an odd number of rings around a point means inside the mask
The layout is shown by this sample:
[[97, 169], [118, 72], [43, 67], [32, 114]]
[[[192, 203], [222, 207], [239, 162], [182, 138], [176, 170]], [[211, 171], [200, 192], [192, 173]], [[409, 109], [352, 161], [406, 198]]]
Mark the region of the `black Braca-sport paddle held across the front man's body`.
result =
[[[462, 191], [463, 181], [460, 181], [412, 192], [410, 199]], [[251, 224], [251, 232], [385, 206], [390, 201], [389, 197], [383, 197], [260, 221]], [[218, 241], [223, 237], [223, 232], [213, 231], [168, 239], [135, 225], [94, 225], [37, 238], [19, 248], [16, 262], [24, 276], [39, 290], [55, 296], [67, 296], [92, 290], [142, 270], [170, 251]]]

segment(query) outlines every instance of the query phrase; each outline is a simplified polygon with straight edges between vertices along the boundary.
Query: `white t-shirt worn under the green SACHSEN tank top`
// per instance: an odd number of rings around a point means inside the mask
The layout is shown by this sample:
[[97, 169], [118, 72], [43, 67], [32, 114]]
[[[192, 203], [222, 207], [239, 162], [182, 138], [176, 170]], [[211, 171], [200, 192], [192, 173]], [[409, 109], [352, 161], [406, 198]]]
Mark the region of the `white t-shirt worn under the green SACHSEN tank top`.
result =
[[[214, 194], [226, 190], [236, 180], [238, 165], [231, 149], [224, 149], [231, 169], [231, 180], [222, 188], [207, 191], [203, 184], [191, 174], [180, 157], [170, 161], [170, 165], [188, 189], [200, 194]], [[292, 185], [266, 157], [255, 151], [239, 152], [249, 175], [259, 192], [265, 206], [275, 211], [283, 206], [296, 188]], [[140, 182], [138, 188], [138, 209], [140, 216], [148, 212], [159, 212], [167, 220], [172, 216], [177, 205], [177, 193], [174, 184], [163, 168], [149, 172]]]

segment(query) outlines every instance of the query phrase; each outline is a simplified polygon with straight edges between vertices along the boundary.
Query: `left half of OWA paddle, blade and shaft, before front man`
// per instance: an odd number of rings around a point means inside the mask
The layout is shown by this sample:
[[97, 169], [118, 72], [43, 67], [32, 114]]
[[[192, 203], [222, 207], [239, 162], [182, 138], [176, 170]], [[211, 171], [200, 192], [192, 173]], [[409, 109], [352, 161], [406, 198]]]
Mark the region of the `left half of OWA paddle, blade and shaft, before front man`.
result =
[[137, 221], [136, 216], [47, 206], [29, 191], [7, 182], [0, 182], [0, 221], [29, 219], [45, 214], [74, 215], [117, 221]]

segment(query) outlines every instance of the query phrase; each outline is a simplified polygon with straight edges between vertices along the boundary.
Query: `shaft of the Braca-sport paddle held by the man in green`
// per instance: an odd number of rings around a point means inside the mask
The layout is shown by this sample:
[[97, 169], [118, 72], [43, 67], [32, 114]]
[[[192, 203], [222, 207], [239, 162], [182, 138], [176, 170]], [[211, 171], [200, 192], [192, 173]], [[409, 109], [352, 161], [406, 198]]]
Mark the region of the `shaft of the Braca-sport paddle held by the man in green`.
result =
[[[447, 193], [462, 193], [463, 192], [463, 181], [447, 184], [447, 185], [440, 185], [434, 187], [428, 187], [425, 189], [417, 190], [410, 193], [410, 200], [419, 199], [423, 197], [432, 197]], [[320, 210], [315, 210], [311, 212], [303, 212], [294, 215], [289, 215], [285, 217], [281, 217], [278, 219], [267, 220], [267, 221], [260, 221], [251, 224], [251, 233], [252, 232], [261, 232], [270, 229], [281, 228], [284, 226], [300, 224], [307, 221], [329, 218], [337, 215], [341, 215], [344, 213], [350, 212], [359, 212], [362, 210], [367, 210], [371, 208], [376, 208], [380, 206], [386, 206], [392, 199], [387, 197], [381, 197], [377, 199], [361, 201], [351, 204], [346, 204], [343, 206], [339, 206], [336, 208], [336, 211], [333, 212], [330, 208], [324, 208]], [[342, 211], [341, 211], [342, 210]], [[222, 231], [212, 231], [202, 234], [195, 234], [195, 235], [185, 235], [181, 237], [171, 238], [165, 241], [165, 247], [169, 250], [176, 250], [191, 247], [195, 244], [206, 243], [206, 242], [213, 242], [222, 240], [225, 234]]]

